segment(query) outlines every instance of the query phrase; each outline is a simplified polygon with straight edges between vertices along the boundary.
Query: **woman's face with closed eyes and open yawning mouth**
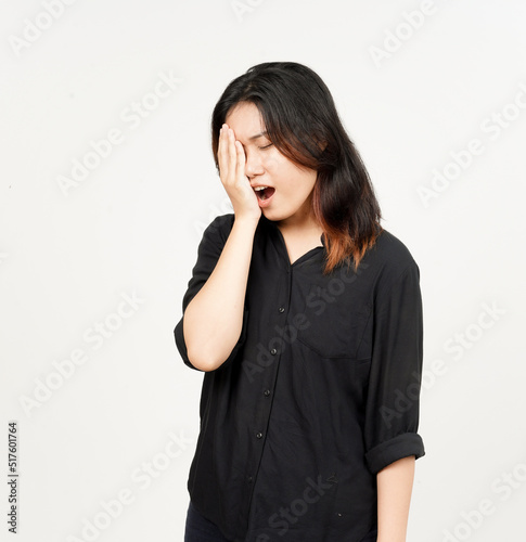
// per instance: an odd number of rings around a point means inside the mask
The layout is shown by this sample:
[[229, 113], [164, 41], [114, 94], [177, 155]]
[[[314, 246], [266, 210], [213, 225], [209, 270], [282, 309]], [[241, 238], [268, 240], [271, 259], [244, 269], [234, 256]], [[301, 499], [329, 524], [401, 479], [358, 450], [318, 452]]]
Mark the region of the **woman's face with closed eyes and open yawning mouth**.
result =
[[[256, 191], [261, 212], [282, 225], [302, 225], [312, 221], [312, 189], [317, 172], [300, 169], [281, 154], [264, 134], [265, 126], [258, 108], [251, 102], [236, 104], [224, 121], [234, 131], [245, 151], [245, 175], [251, 186], [270, 186]], [[270, 198], [261, 199], [267, 192]]]

